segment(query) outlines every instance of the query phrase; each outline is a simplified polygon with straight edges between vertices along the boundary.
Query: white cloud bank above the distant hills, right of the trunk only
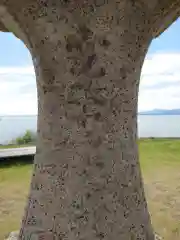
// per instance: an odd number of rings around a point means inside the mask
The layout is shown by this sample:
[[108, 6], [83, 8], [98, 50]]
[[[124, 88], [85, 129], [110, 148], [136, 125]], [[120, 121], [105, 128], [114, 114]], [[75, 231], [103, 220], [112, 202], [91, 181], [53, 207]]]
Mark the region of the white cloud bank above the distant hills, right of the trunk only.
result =
[[180, 52], [154, 53], [145, 59], [139, 110], [180, 108]]

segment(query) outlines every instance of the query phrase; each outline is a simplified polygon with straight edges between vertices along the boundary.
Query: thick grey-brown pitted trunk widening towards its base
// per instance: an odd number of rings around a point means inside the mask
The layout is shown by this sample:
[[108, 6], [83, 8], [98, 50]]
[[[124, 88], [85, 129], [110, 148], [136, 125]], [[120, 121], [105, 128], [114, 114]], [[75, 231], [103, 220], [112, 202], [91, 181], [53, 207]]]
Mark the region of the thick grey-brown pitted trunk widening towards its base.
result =
[[148, 9], [64, 2], [28, 25], [38, 143], [19, 239], [153, 240], [137, 149]]

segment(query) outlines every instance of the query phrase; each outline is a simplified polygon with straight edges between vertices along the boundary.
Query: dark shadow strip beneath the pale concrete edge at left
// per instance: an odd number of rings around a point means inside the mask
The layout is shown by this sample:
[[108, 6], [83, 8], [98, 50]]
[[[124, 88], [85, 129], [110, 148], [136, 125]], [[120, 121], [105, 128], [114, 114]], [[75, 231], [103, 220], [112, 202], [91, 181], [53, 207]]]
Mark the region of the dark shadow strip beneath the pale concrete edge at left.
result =
[[0, 169], [4, 167], [12, 167], [16, 165], [29, 165], [33, 164], [34, 155], [21, 156], [21, 157], [9, 157], [9, 158], [0, 158]]

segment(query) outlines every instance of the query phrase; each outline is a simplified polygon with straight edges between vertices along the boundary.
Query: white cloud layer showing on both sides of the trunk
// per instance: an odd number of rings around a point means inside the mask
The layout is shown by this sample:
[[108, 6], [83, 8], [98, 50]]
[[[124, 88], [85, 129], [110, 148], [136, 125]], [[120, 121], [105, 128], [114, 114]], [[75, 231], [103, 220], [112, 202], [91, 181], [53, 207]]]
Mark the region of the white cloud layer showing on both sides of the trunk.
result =
[[[32, 66], [0, 67], [0, 115], [37, 114]], [[180, 108], [180, 52], [154, 53], [145, 59], [139, 110]]]

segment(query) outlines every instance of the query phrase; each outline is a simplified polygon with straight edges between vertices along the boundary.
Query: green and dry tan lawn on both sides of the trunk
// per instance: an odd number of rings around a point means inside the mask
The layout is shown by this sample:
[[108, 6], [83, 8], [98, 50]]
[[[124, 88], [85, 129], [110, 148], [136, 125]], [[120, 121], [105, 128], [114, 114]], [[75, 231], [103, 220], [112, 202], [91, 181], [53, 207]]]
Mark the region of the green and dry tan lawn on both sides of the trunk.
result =
[[[180, 140], [139, 140], [140, 163], [155, 231], [180, 239]], [[20, 226], [31, 164], [0, 164], [0, 240]]]

